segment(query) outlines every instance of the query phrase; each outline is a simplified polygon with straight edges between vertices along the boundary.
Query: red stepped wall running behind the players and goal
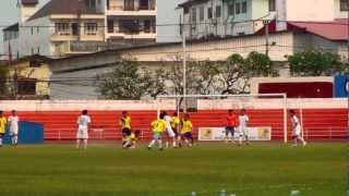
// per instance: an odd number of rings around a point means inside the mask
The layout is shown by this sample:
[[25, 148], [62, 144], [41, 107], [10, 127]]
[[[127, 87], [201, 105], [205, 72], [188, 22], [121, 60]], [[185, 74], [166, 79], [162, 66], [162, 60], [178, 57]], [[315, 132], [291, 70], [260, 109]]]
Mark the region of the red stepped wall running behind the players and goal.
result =
[[[197, 127], [224, 126], [225, 110], [201, 110], [191, 113], [194, 134]], [[46, 140], [74, 139], [79, 111], [19, 112], [22, 121], [43, 123]], [[273, 139], [282, 139], [282, 110], [248, 110], [251, 126], [272, 126]], [[93, 130], [103, 128], [104, 134], [91, 132], [91, 138], [120, 139], [119, 119], [121, 111], [89, 111]], [[156, 111], [131, 111], [134, 130], [141, 130], [144, 139], [149, 139], [149, 124], [156, 118]], [[303, 110], [303, 127], [308, 139], [344, 139], [347, 130], [347, 111], [345, 109], [306, 109]], [[288, 136], [291, 128], [288, 119]]]

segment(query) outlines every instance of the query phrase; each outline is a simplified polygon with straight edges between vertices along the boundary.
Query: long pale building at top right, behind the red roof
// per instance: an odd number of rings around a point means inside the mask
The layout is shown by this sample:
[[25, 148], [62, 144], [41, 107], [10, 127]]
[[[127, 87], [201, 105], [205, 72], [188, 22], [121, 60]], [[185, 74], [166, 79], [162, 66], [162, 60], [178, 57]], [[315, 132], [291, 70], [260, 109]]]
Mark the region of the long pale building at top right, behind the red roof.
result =
[[183, 11], [186, 37], [253, 34], [263, 20], [277, 20], [285, 29], [285, 21], [335, 21], [348, 17], [347, 0], [188, 0], [179, 4]]

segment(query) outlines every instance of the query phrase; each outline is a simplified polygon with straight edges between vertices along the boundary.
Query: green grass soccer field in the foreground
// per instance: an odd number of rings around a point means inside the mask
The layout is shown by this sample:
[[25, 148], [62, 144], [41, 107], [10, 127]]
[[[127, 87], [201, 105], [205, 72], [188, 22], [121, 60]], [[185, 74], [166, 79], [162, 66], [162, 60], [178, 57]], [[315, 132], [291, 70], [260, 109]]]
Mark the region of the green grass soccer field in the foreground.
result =
[[122, 150], [118, 145], [0, 148], [0, 195], [346, 194], [347, 146], [315, 143], [198, 144], [191, 149]]

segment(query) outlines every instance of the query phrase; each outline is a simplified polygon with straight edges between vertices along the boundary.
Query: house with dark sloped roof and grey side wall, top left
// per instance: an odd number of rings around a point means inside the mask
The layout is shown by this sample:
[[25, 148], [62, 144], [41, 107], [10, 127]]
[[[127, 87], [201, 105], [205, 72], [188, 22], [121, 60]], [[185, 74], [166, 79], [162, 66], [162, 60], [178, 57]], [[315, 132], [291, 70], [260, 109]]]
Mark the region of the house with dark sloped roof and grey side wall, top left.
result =
[[3, 29], [5, 53], [11, 48], [14, 58], [59, 58], [96, 51], [105, 41], [103, 1], [51, 0], [37, 7], [38, 0], [19, 1], [19, 23]]

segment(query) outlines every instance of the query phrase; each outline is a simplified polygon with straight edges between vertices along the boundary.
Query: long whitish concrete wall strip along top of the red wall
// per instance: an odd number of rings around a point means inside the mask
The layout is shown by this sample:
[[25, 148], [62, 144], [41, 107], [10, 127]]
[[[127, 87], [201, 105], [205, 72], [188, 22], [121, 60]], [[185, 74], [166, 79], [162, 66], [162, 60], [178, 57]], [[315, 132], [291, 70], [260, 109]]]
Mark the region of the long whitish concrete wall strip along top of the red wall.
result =
[[[197, 100], [198, 110], [228, 109], [282, 109], [284, 99], [220, 99]], [[287, 99], [288, 109], [346, 109], [347, 99]], [[156, 111], [159, 107], [155, 100], [11, 100], [0, 101], [4, 111]], [[161, 110], [174, 110], [176, 101], [161, 100]]]

